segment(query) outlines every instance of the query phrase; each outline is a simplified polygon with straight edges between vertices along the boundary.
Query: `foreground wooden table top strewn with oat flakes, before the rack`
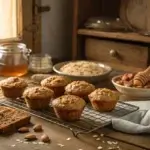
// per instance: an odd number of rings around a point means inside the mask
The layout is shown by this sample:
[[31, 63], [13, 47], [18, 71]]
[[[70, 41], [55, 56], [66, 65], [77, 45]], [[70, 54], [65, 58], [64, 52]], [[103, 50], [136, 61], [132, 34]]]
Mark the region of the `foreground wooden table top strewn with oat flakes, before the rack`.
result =
[[[116, 150], [147, 150], [150, 149], [150, 135], [130, 135], [114, 131], [111, 127], [102, 128], [97, 133], [73, 136], [68, 129], [52, 124], [40, 118], [32, 116], [33, 124], [42, 124], [43, 133], [51, 138], [50, 144], [43, 144], [40, 140], [35, 142], [25, 142], [25, 134], [15, 133], [11, 136], [0, 136], [1, 150], [96, 150], [102, 147], [103, 150], [111, 150], [113, 146]], [[40, 137], [43, 133], [38, 133]], [[99, 135], [97, 138], [93, 135]], [[102, 136], [104, 134], [104, 136]], [[68, 140], [69, 139], [69, 140]], [[18, 142], [17, 142], [18, 141]], [[113, 142], [115, 144], [113, 144]], [[62, 147], [60, 146], [62, 145]], [[120, 148], [120, 149], [119, 149]], [[115, 150], [115, 149], [114, 149]]]

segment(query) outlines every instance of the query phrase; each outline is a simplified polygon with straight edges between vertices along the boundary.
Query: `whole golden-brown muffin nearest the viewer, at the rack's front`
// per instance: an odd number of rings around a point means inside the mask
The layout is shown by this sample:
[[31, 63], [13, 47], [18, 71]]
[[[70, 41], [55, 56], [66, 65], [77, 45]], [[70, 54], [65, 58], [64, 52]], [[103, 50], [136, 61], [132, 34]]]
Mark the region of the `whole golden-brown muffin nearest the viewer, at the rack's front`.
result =
[[85, 104], [82, 98], [75, 95], [63, 95], [52, 101], [56, 116], [65, 121], [79, 120]]

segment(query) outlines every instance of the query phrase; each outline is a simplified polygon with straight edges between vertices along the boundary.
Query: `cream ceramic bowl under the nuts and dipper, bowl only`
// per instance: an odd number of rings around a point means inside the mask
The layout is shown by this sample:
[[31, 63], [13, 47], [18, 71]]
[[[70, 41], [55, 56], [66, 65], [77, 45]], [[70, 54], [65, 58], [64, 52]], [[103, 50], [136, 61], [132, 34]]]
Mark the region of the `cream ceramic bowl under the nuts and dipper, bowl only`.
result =
[[112, 78], [113, 85], [120, 93], [130, 96], [130, 97], [150, 99], [150, 89], [126, 87], [126, 86], [117, 84], [116, 81], [119, 80], [121, 76], [122, 75], [115, 76]]

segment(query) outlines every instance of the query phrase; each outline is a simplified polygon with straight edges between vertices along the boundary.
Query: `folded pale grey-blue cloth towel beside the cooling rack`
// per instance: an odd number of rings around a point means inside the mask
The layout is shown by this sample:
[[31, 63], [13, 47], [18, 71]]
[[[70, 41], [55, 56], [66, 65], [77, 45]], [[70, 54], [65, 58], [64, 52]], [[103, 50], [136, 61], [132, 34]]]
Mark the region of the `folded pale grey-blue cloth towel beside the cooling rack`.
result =
[[150, 133], [150, 110], [139, 110], [122, 118], [113, 118], [112, 126], [124, 133]]

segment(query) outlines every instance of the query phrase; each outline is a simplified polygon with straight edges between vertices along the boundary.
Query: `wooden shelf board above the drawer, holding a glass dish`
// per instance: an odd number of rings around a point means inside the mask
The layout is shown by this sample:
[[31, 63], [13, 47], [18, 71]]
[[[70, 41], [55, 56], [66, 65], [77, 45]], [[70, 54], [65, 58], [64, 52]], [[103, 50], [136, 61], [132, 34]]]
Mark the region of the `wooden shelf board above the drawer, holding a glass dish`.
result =
[[143, 35], [140, 35], [140, 34], [134, 33], [134, 32], [128, 32], [128, 33], [102, 32], [102, 31], [96, 31], [96, 30], [92, 30], [92, 29], [78, 29], [77, 33], [79, 35], [86, 35], [86, 36], [150, 43], [150, 37], [143, 36]]

